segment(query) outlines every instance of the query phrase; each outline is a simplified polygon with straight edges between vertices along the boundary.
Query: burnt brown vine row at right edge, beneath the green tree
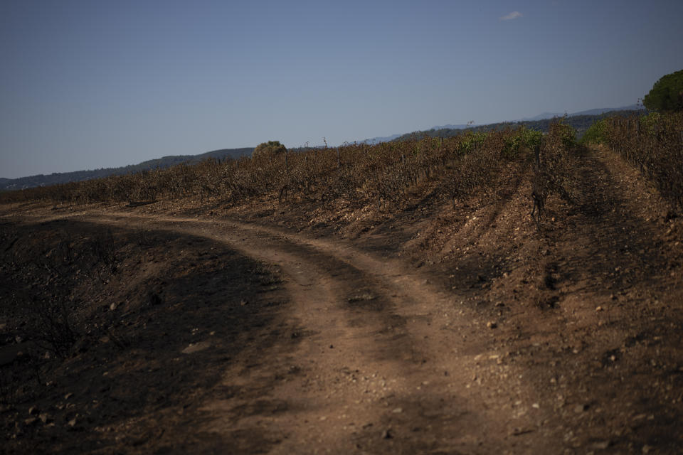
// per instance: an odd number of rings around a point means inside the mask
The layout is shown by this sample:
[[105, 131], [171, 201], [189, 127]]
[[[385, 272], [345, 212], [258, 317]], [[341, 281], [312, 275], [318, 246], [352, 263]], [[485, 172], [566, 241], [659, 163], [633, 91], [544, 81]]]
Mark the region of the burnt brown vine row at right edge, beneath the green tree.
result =
[[683, 212], [683, 112], [603, 122], [608, 145], [639, 168], [673, 210]]

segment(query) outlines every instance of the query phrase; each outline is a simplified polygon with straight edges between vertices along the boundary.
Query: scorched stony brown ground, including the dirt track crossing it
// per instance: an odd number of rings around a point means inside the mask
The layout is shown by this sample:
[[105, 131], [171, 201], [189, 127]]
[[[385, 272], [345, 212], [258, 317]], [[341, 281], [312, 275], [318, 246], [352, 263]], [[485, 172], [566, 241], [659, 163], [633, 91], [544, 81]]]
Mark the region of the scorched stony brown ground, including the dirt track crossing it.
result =
[[605, 149], [540, 231], [493, 188], [1, 207], [1, 451], [680, 453], [681, 218]]

